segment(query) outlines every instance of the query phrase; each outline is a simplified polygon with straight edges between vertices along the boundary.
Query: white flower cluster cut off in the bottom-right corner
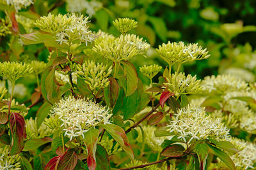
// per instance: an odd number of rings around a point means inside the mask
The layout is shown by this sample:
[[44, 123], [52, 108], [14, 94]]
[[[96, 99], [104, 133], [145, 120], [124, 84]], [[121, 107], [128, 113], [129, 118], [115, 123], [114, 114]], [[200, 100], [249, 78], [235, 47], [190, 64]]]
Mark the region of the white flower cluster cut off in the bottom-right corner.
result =
[[256, 163], [256, 145], [244, 141], [243, 139], [230, 138], [230, 142], [241, 150], [231, 156], [231, 159], [236, 164], [237, 170], [255, 169], [253, 166]]

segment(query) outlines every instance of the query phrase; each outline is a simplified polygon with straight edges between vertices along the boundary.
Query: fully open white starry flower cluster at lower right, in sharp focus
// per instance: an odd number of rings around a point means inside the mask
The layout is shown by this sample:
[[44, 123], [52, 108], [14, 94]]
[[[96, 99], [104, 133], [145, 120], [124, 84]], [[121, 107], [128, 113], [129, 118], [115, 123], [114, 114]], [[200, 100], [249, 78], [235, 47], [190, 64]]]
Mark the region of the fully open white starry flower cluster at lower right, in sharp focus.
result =
[[193, 139], [221, 139], [227, 138], [229, 129], [221, 123], [220, 118], [212, 118], [206, 115], [204, 108], [182, 108], [173, 115], [170, 124], [170, 132], [175, 132], [179, 139], [188, 143]]

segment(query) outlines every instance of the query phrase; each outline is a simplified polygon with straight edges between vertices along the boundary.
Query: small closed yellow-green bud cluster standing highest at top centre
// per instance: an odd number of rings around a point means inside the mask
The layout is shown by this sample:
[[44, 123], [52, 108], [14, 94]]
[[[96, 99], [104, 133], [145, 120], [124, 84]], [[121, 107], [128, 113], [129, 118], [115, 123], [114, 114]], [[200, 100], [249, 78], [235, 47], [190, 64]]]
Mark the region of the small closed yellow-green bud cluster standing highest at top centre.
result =
[[118, 18], [113, 21], [113, 25], [115, 25], [116, 29], [122, 34], [125, 34], [127, 31], [134, 29], [137, 27], [138, 22], [132, 20], [130, 18]]

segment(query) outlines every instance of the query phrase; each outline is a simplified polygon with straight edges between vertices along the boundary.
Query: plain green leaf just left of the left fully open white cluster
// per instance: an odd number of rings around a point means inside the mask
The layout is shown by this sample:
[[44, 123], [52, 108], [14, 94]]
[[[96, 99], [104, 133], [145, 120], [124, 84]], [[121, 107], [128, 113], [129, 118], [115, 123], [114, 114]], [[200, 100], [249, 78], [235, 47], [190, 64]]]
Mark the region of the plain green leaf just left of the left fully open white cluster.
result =
[[48, 117], [50, 111], [51, 111], [52, 105], [45, 102], [40, 106], [40, 108], [36, 112], [36, 125], [37, 127], [40, 127], [42, 122], [44, 122], [44, 119]]

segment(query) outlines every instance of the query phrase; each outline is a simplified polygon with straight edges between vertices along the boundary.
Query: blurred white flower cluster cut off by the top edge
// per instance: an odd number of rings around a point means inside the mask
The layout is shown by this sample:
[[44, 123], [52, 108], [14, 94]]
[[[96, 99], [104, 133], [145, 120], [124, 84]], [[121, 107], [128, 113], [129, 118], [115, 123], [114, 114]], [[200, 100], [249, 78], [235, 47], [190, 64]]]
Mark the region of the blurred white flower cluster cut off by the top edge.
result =
[[66, 0], [67, 10], [70, 12], [79, 12], [86, 10], [89, 17], [92, 17], [96, 11], [102, 8], [102, 3], [99, 1], [86, 1], [86, 0]]

